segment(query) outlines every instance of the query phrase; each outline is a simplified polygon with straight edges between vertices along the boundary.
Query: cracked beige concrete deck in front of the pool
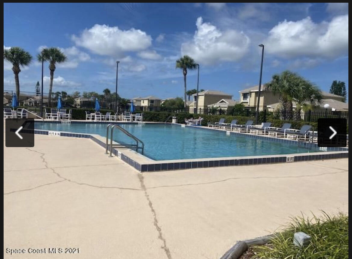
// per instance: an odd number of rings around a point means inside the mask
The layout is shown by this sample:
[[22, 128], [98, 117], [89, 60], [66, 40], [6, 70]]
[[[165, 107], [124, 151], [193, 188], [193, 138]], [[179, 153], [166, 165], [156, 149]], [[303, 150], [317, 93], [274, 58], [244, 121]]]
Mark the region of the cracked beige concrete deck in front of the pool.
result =
[[5, 258], [217, 259], [301, 211], [348, 212], [347, 158], [140, 173], [90, 139], [35, 139], [4, 136]]

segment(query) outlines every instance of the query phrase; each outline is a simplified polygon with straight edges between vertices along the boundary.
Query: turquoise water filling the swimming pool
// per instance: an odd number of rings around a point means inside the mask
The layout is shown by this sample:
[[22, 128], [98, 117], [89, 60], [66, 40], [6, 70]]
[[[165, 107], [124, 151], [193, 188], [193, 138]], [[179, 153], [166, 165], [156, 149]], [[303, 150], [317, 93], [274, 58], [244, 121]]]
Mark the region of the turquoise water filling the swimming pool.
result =
[[[36, 122], [38, 130], [93, 133], [106, 137], [107, 124]], [[201, 130], [170, 124], [120, 124], [144, 142], [144, 155], [154, 160], [259, 156], [319, 152], [304, 147], [277, 143], [247, 136], [226, 135], [224, 132]], [[121, 144], [135, 144], [124, 133], [114, 130], [114, 140]], [[320, 151], [321, 152], [321, 151]]]

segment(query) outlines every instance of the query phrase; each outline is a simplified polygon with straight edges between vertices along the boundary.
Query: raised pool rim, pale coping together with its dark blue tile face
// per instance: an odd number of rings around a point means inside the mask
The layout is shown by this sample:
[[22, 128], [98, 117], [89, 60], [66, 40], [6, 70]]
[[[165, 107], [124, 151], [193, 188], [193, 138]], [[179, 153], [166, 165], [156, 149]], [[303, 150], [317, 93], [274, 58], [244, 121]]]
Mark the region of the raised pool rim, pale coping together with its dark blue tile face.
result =
[[[45, 121], [60, 123], [57, 121]], [[85, 123], [96, 123], [90, 121], [73, 121], [74, 123], [85, 122]], [[98, 122], [102, 123], [102, 122]], [[107, 122], [104, 122], [107, 123]], [[131, 122], [111, 122], [111, 123], [125, 123], [125, 124], [137, 124]], [[163, 122], [143, 122], [150, 124], [165, 124]], [[166, 123], [171, 124], [171, 123]], [[191, 126], [184, 124], [176, 124], [180, 127], [196, 127], [202, 130], [219, 131], [224, 134], [230, 135], [246, 135], [251, 138], [261, 138], [267, 139], [280, 143], [287, 143], [290, 145], [297, 145], [306, 148], [317, 148], [316, 143], [301, 142], [296, 140], [284, 139], [284, 138], [274, 138], [268, 137], [266, 135], [254, 135], [247, 133], [239, 133], [232, 131], [225, 131], [221, 129], [214, 129], [210, 127], [202, 126]], [[181, 126], [182, 125], [182, 126]], [[62, 137], [75, 137], [75, 138], [88, 138], [93, 140], [98, 145], [106, 149], [106, 137], [102, 137], [98, 134], [92, 133], [74, 133], [74, 132], [64, 132], [64, 131], [49, 131], [49, 130], [34, 130], [34, 134], [43, 135], [56, 135]], [[115, 144], [118, 144], [114, 141]], [[300, 161], [310, 161], [310, 160], [322, 160], [322, 159], [336, 159], [336, 158], [348, 158], [348, 148], [346, 147], [327, 147], [327, 151], [314, 152], [314, 153], [295, 153], [295, 154], [278, 154], [278, 155], [260, 155], [260, 156], [244, 156], [244, 157], [216, 157], [216, 158], [194, 158], [194, 159], [174, 159], [174, 160], [153, 160], [142, 154], [128, 149], [112, 149], [112, 154], [120, 158], [125, 163], [131, 165], [133, 168], [140, 172], [154, 172], [154, 171], [168, 171], [168, 170], [182, 170], [191, 168], [209, 168], [209, 167], [219, 167], [219, 166], [240, 166], [240, 165], [255, 165], [255, 164], [274, 164], [274, 163], [291, 163]]]

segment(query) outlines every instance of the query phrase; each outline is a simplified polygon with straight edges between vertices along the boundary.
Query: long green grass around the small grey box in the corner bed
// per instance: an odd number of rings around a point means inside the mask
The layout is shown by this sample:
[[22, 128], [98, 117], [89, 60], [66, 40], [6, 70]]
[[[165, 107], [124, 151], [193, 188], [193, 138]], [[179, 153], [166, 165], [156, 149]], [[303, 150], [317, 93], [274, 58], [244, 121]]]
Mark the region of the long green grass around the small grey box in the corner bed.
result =
[[[308, 246], [299, 248], [293, 244], [295, 232], [311, 236]], [[295, 217], [287, 228], [265, 246], [252, 247], [253, 259], [327, 259], [348, 258], [348, 215], [322, 217]], [[247, 257], [249, 258], [249, 257]]]

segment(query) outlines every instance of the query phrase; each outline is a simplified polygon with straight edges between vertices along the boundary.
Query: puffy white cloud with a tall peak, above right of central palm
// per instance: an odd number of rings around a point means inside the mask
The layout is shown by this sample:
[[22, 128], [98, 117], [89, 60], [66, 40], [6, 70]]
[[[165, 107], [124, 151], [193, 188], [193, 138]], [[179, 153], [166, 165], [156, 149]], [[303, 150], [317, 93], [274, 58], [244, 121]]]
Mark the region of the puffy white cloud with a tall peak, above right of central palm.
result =
[[243, 32], [220, 31], [210, 23], [196, 21], [197, 30], [191, 42], [181, 45], [182, 55], [189, 55], [196, 62], [212, 64], [221, 61], [237, 61], [248, 50], [250, 39]]

